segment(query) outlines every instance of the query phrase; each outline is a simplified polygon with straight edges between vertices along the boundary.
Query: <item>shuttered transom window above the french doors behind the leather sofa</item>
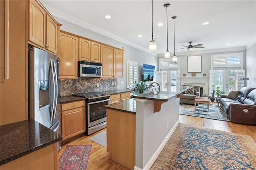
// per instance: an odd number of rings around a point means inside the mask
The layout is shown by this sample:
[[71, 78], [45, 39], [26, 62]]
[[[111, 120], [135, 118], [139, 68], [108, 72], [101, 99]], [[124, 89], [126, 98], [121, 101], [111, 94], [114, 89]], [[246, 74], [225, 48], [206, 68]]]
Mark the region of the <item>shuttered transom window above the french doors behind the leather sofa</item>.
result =
[[214, 67], [241, 67], [244, 53], [228, 53], [212, 55], [212, 69]]

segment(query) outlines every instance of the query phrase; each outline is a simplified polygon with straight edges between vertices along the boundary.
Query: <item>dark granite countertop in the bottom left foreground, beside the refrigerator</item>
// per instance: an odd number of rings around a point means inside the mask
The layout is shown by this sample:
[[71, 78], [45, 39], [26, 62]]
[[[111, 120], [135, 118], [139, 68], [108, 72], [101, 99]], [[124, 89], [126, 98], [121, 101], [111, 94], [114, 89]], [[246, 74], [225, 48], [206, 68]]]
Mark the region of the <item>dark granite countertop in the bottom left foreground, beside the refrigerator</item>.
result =
[[0, 138], [0, 165], [3, 165], [58, 142], [62, 136], [29, 119], [0, 126]]

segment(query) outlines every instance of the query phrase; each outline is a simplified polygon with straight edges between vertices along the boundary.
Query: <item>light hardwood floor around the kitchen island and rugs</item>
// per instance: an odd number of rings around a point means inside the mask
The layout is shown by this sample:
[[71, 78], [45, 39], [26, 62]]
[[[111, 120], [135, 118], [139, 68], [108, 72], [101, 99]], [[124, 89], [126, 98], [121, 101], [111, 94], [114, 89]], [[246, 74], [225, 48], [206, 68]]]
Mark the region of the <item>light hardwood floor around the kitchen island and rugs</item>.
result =
[[[248, 135], [252, 136], [252, 138], [256, 142], [256, 126], [241, 125], [226, 121], [217, 121], [212, 119], [204, 119], [200, 117], [192, 117], [186, 115], [180, 115], [180, 123], [193, 125], [197, 127], [222, 130], [226, 132], [233, 132], [236, 134]], [[92, 152], [90, 154], [87, 167], [88, 170], [128, 170], [128, 168], [110, 160], [105, 147], [89, 139], [91, 136], [94, 136], [104, 130], [106, 130], [106, 128], [90, 136], [82, 136], [80, 138], [77, 138], [71, 142], [62, 145], [60, 152], [58, 152], [58, 159], [60, 158], [62, 152], [65, 150], [66, 145], [92, 144]]]

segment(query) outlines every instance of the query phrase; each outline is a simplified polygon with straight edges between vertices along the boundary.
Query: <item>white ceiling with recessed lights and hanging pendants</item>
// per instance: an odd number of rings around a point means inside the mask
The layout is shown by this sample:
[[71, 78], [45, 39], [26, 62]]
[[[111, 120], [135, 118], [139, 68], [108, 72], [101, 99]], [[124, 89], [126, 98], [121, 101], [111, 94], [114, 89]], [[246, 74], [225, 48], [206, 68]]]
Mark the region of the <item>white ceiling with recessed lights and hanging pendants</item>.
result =
[[[237, 0], [188, 0], [153, 1], [153, 34], [158, 50], [148, 51], [152, 37], [151, 0], [40, 0], [49, 12], [103, 34], [120, 42], [132, 45], [153, 55], [161, 56], [166, 50], [166, 8], [168, 7], [168, 50], [174, 52], [172, 16], [175, 20], [176, 55], [186, 52], [181, 45], [202, 43], [209, 51], [250, 46], [256, 40], [256, 1]], [[104, 16], [110, 15], [110, 19]], [[210, 22], [208, 25], [202, 25]], [[158, 23], [164, 24], [162, 27]], [[141, 38], [138, 35], [142, 35]], [[230, 43], [230, 45], [227, 45]], [[202, 51], [204, 50], [204, 51]]]

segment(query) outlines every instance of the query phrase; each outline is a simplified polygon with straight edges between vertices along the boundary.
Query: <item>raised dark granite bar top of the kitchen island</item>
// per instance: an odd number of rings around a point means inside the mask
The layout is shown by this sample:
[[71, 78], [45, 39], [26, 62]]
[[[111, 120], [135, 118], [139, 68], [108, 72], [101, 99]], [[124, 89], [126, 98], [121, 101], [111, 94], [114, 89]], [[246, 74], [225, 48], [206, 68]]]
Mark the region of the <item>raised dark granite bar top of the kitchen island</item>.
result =
[[180, 89], [171, 89], [170, 91], [160, 91], [157, 95], [152, 95], [151, 93], [142, 93], [138, 95], [133, 95], [137, 99], [155, 100], [155, 101], [168, 101], [173, 97], [176, 97], [180, 93], [186, 91], [190, 86], [182, 86]]

